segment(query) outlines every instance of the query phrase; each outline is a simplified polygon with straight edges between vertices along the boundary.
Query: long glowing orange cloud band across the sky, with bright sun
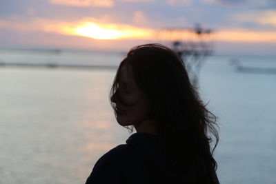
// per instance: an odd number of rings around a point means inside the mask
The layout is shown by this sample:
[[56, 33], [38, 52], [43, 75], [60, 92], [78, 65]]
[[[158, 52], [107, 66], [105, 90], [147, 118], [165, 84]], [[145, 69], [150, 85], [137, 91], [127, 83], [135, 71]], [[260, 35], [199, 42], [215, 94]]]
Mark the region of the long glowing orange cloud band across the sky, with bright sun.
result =
[[[197, 35], [189, 31], [176, 31], [171, 34], [150, 28], [141, 28], [122, 23], [106, 23], [106, 21], [83, 18], [79, 21], [55, 21], [49, 19], [32, 19], [31, 21], [3, 21], [0, 28], [23, 32], [55, 32], [63, 35], [89, 37], [92, 39], [148, 39], [148, 40], [196, 40]], [[248, 43], [276, 43], [276, 32], [253, 31], [246, 29], [224, 29], [214, 32], [213, 37], [201, 37], [214, 41], [248, 42]]]

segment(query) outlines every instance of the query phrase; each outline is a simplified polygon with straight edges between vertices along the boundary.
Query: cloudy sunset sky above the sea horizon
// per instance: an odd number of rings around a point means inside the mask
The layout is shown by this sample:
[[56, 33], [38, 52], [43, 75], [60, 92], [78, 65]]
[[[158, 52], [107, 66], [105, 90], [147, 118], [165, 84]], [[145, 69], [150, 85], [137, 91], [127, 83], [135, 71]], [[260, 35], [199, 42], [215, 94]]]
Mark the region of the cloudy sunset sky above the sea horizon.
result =
[[213, 30], [201, 39], [218, 54], [276, 55], [275, 0], [0, 1], [1, 48], [127, 50], [197, 41], [186, 31], [166, 31], [197, 24]]

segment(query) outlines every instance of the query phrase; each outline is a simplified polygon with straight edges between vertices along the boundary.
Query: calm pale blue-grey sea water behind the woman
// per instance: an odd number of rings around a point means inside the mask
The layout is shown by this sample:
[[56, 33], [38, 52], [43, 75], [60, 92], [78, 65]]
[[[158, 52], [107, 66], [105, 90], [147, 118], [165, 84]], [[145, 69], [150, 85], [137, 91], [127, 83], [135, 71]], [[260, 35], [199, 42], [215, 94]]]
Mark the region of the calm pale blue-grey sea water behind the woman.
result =
[[[119, 52], [1, 50], [0, 63], [119, 65]], [[202, 99], [219, 116], [221, 183], [275, 184], [276, 57], [209, 57]], [[263, 70], [262, 70], [263, 71]], [[108, 101], [115, 70], [0, 67], [0, 183], [85, 183], [99, 157], [125, 143]]]

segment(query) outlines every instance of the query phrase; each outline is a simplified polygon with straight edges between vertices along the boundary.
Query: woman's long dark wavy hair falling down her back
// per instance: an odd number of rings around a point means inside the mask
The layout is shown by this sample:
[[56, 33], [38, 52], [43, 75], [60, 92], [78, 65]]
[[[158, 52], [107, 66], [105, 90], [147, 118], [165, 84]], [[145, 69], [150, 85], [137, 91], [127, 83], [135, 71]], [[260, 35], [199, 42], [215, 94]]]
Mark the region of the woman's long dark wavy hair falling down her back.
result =
[[118, 89], [124, 64], [132, 67], [135, 81], [151, 101], [149, 119], [164, 139], [168, 167], [183, 172], [183, 183], [218, 183], [213, 158], [219, 140], [216, 116], [190, 83], [181, 57], [156, 43], [132, 48], [119, 65], [110, 97]]

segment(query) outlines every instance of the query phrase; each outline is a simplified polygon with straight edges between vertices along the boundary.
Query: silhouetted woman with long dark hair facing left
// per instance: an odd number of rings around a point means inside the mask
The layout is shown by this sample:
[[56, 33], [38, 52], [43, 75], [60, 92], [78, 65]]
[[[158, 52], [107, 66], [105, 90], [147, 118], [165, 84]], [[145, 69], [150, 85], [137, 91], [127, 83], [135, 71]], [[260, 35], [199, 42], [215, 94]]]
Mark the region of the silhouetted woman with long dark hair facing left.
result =
[[210, 148], [218, 141], [216, 118], [175, 52], [159, 44], [132, 48], [110, 101], [118, 123], [137, 133], [97, 161], [87, 184], [219, 183]]

